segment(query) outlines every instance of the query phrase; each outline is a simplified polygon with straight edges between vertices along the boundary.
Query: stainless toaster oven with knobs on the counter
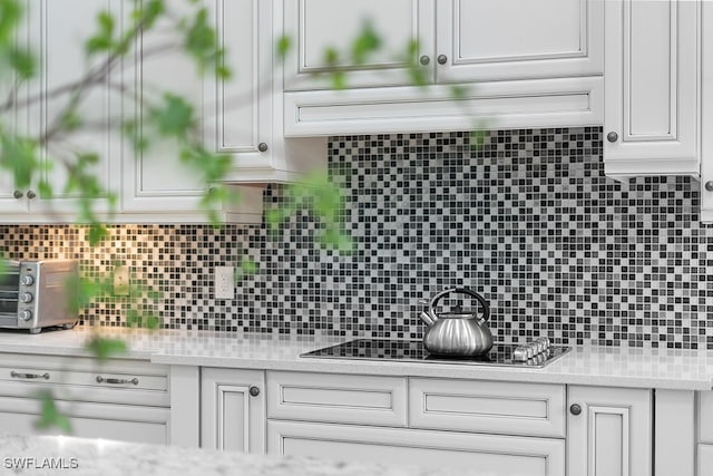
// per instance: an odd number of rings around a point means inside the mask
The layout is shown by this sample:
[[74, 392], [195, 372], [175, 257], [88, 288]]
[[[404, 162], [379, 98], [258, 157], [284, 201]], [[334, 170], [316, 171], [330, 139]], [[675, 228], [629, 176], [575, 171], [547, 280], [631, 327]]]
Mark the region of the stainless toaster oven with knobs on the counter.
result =
[[78, 264], [75, 260], [27, 260], [0, 263], [0, 328], [75, 327]]

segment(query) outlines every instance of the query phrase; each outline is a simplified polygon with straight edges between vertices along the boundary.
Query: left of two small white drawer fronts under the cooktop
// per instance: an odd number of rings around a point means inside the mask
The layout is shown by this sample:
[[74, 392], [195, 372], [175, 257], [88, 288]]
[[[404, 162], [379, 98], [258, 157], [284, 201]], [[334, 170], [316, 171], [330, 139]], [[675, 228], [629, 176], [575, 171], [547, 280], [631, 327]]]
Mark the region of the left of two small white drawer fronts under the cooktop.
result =
[[406, 426], [406, 378], [267, 372], [267, 416]]

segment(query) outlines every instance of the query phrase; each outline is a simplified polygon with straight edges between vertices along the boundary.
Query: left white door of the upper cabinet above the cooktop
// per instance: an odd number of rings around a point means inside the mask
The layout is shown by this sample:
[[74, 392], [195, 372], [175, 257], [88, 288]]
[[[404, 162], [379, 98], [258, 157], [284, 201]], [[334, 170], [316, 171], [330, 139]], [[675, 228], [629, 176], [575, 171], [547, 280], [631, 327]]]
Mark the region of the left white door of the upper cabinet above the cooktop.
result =
[[403, 59], [411, 41], [419, 41], [420, 56], [434, 64], [433, 0], [286, 0], [285, 33], [295, 42], [285, 65], [285, 89], [325, 89], [331, 82], [315, 75], [329, 69], [328, 48], [350, 56], [354, 39], [370, 21], [382, 40], [373, 57], [354, 64], [340, 58], [348, 87], [394, 86], [409, 82]]

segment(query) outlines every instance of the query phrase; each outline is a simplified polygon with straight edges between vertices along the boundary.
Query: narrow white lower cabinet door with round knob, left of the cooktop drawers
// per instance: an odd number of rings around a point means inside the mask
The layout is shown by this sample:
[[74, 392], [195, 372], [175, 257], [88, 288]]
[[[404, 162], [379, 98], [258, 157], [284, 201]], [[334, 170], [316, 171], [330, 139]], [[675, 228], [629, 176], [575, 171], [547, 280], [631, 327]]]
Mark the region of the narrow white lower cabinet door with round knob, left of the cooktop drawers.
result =
[[265, 453], [265, 376], [258, 370], [202, 369], [202, 447]]

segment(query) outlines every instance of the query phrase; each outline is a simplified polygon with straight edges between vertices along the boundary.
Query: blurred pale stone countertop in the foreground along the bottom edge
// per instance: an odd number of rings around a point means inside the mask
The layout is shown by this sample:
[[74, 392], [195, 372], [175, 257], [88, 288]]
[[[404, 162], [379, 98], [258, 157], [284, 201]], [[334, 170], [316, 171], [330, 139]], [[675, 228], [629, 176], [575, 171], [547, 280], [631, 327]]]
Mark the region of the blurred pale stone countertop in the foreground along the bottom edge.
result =
[[[0, 474], [31, 476], [457, 476], [472, 470], [428, 469], [304, 457], [246, 455], [66, 436], [0, 435]], [[478, 473], [477, 476], [488, 476]]]

